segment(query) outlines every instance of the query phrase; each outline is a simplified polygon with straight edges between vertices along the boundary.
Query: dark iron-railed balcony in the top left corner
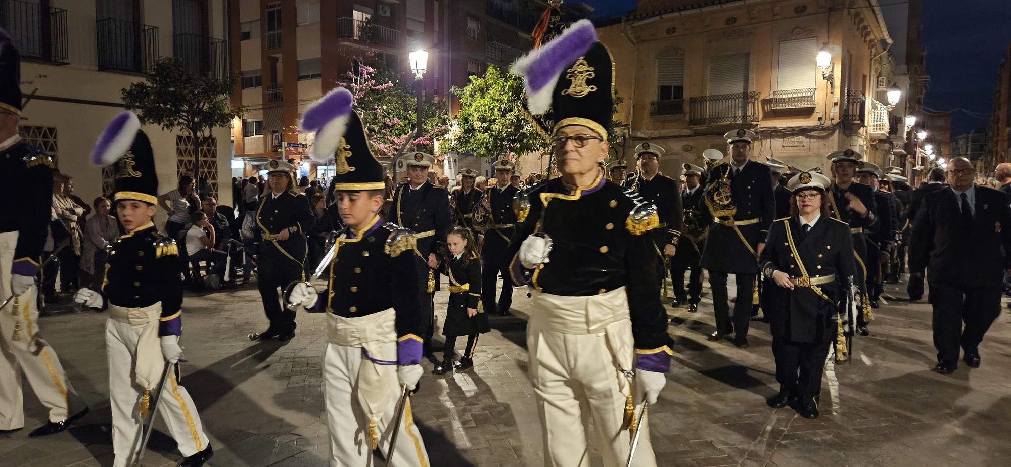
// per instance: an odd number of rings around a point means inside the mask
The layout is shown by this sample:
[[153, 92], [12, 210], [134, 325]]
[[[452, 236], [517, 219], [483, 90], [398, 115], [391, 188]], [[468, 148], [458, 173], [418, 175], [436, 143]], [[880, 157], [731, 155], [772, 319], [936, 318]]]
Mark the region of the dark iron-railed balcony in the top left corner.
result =
[[0, 0], [0, 27], [24, 60], [67, 65], [67, 10], [20, 0]]

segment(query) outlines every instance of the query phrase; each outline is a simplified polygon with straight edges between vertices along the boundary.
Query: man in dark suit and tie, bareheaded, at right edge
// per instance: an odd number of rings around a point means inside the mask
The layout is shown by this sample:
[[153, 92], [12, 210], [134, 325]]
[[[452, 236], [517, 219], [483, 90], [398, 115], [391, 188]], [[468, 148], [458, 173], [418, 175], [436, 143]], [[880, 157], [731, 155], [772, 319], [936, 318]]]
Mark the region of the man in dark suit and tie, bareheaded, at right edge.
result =
[[1007, 194], [973, 183], [976, 170], [968, 159], [948, 164], [950, 187], [923, 198], [909, 258], [914, 271], [927, 269], [937, 348], [934, 371], [941, 374], [957, 368], [959, 346], [966, 364], [980, 366], [979, 346], [1000, 314], [1003, 273], [1011, 272]]

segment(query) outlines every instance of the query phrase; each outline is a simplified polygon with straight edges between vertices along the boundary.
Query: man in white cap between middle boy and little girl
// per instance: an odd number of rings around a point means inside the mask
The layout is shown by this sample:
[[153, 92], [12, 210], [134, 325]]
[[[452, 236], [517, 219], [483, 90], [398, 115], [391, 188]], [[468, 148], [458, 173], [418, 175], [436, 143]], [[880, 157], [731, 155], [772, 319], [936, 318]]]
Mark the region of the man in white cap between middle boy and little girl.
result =
[[425, 355], [432, 352], [433, 293], [439, 286], [440, 249], [446, 245], [446, 235], [452, 228], [449, 210], [449, 193], [445, 188], [433, 186], [428, 181], [429, 168], [436, 158], [430, 154], [415, 152], [404, 156], [407, 163], [406, 183], [401, 183], [393, 193], [390, 221], [409, 228], [418, 238], [418, 300], [419, 308], [427, 316], [428, 326], [424, 333]]

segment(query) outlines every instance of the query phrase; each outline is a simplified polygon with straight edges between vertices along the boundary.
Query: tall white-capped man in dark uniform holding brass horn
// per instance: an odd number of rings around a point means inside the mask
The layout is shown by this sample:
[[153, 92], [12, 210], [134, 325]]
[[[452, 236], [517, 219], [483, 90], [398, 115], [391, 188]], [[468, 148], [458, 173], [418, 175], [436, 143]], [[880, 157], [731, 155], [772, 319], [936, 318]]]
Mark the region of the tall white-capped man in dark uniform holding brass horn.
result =
[[[741, 128], [724, 137], [731, 159], [709, 171], [705, 195], [709, 214], [716, 219], [702, 254], [716, 313], [716, 331], [709, 340], [729, 339], [733, 333], [734, 345], [747, 348], [752, 308], [758, 303], [758, 256], [775, 217], [775, 197], [768, 166], [749, 160], [755, 133]], [[733, 321], [727, 294], [729, 274], [737, 281]]]

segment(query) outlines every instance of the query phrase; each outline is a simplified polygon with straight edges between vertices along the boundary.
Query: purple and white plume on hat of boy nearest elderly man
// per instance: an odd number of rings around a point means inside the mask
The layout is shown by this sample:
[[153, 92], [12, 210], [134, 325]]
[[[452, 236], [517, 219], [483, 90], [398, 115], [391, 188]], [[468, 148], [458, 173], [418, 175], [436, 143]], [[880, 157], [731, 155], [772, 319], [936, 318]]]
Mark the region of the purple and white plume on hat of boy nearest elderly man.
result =
[[313, 161], [324, 162], [334, 155], [348, 129], [354, 100], [351, 91], [338, 87], [305, 109], [298, 129], [315, 132], [315, 139], [309, 148], [309, 157]]

